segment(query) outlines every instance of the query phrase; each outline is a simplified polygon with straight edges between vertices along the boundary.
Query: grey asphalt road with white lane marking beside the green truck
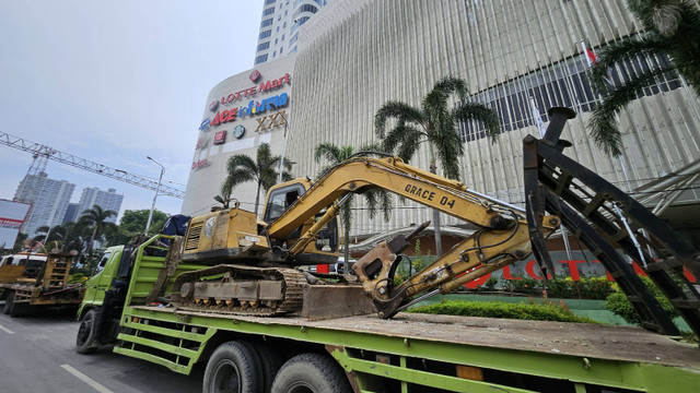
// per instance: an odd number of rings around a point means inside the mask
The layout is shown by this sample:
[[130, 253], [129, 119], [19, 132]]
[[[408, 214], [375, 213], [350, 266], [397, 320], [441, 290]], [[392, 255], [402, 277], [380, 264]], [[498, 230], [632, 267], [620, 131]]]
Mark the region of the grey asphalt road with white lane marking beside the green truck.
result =
[[112, 348], [79, 355], [77, 332], [71, 315], [10, 318], [0, 312], [0, 392], [201, 392], [203, 367], [183, 376]]

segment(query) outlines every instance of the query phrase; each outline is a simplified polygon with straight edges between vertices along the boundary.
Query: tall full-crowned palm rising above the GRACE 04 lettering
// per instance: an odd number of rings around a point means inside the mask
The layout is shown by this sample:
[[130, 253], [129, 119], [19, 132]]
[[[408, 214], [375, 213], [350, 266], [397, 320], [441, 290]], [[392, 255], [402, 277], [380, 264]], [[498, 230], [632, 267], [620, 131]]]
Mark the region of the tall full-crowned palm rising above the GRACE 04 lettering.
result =
[[[455, 95], [456, 105], [450, 98]], [[486, 132], [494, 142], [500, 132], [500, 120], [497, 112], [478, 103], [467, 102], [467, 83], [459, 78], [445, 76], [438, 81], [423, 97], [420, 108], [401, 102], [387, 102], [374, 116], [376, 134], [383, 140], [384, 150], [396, 151], [398, 156], [408, 162], [418, 146], [428, 142], [430, 148], [430, 172], [436, 174], [436, 162], [440, 159], [444, 176], [459, 179], [457, 157], [464, 155], [464, 143], [457, 131], [463, 121], [481, 121]], [[387, 121], [396, 119], [396, 126], [388, 132]], [[442, 254], [442, 237], [440, 231], [440, 213], [433, 211], [435, 228], [435, 251]]]

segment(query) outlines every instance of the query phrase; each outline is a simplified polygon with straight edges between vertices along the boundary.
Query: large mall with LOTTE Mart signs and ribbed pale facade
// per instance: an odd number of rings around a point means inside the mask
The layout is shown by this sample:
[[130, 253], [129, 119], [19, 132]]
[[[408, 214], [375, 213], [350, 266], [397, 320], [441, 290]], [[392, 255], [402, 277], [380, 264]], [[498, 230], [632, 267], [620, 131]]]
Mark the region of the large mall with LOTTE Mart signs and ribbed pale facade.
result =
[[[522, 141], [539, 134], [532, 102], [547, 123], [547, 109], [565, 106], [578, 116], [562, 138], [565, 153], [625, 191], [653, 192], [679, 187], [682, 174], [697, 172], [700, 159], [700, 102], [677, 76], [645, 88], [619, 116], [621, 158], [606, 155], [586, 131], [599, 100], [592, 91], [584, 47], [640, 34], [640, 24], [617, 0], [335, 0], [299, 27], [298, 51], [231, 76], [213, 87], [198, 132], [184, 214], [201, 214], [215, 204], [228, 158], [255, 157], [260, 143], [294, 162], [294, 176], [314, 178], [322, 166], [319, 143], [361, 146], [376, 142], [376, 110], [387, 100], [419, 107], [434, 82], [456, 75], [469, 84], [470, 99], [495, 109], [502, 134], [485, 138], [481, 124], [460, 126], [465, 155], [460, 180], [475, 191], [523, 206]], [[668, 61], [640, 57], [610, 70], [614, 82], [628, 80]], [[270, 103], [279, 105], [272, 106]], [[285, 138], [285, 130], [288, 131]], [[424, 146], [410, 162], [428, 169]], [[440, 171], [440, 168], [439, 168]], [[675, 186], [673, 186], [675, 184]], [[698, 235], [700, 192], [685, 190], [662, 216]], [[242, 207], [253, 210], [255, 186], [234, 190]], [[653, 195], [652, 195], [653, 194]], [[262, 198], [262, 196], [261, 196]], [[661, 196], [660, 196], [661, 198]], [[431, 219], [411, 202], [396, 202], [392, 219], [371, 221], [357, 200], [353, 237]], [[444, 216], [443, 224], [459, 226]], [[354, 240], [354, 239], [353, 239]]]

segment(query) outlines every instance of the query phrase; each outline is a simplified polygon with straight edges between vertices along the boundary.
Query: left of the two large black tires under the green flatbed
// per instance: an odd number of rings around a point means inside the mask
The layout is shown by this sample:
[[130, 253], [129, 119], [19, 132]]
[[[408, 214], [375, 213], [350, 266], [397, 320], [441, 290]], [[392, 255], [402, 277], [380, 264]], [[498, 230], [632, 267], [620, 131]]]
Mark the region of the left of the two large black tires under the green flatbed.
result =
[[211, 354], [202, 383], [202, 393], [260, 393], [260, 359], [250, 344], [233, 341], [221, 344]]

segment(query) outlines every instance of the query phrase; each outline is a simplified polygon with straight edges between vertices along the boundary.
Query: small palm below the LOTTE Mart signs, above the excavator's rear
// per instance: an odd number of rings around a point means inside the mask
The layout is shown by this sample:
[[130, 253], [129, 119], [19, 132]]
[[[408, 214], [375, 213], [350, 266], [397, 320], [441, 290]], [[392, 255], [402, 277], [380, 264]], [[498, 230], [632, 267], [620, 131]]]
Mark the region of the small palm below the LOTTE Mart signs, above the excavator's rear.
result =
[[[270, 152], [269, 143], [261, 143], [258, 146], [256, 160], [253, 160], [245, 154], [237, 154], [229, 158], [226, 170], [229, 175], [221, 184], [221, 194], [224, 200], [231, 198], [233, 189], [244, 182], [255, 181], [257, 183], [257, 192], [255, 193], [255, 214], [258, 214], [258, 204], [260, 203], [260, 189], [265, 192], [277, 183], [278, 167], [280, 156], [273, 156]], [[292, 179], [289, 172], [292, 169], [292, 162], [284, 158], [282, 169], [282, 180]]]

